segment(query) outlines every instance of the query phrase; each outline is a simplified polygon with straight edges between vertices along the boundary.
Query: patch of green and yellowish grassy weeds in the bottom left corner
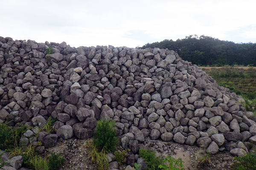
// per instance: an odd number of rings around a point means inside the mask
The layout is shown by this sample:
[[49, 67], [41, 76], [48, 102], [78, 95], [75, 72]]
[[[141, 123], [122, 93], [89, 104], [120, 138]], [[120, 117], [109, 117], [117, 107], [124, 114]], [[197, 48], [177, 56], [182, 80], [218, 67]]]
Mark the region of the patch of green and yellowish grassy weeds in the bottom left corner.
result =
[[[22, 156], [23, 167], [35, 170], [58, 170], [64, 165], [65, 159], [53, 153], [48, 157], [41, 157], [35, 151], [35, 145], [24, 145], [20, 143], [20, 138], [29, 127], [20, 125], [19, 127], [9, 127], [0, 123], [0, 149], [6, 150], [9, 156]], [[40, 143], [40, 142], [38, 142]], [[0, 160], [0, 167], [3, 166]]]

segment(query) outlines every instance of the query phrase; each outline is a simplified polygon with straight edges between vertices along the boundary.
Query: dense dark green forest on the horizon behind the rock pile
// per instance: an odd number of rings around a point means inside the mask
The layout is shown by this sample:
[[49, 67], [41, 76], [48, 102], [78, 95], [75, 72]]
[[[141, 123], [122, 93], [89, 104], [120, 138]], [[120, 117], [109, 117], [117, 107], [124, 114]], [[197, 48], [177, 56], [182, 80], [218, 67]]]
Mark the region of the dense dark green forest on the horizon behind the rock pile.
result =
[[250, 65], [256, 66], [256, 43], [234, 43], [201, 35], [185, 39], [147, 43], [140, 48], [168, 48], [196, 65]]

